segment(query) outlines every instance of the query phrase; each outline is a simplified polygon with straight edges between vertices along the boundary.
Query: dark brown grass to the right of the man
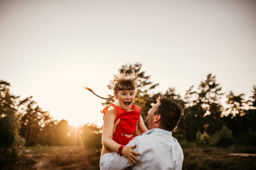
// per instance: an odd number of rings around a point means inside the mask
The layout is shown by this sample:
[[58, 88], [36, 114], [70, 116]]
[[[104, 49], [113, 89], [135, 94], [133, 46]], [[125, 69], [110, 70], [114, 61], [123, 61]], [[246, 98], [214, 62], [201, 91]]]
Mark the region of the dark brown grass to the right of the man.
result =
[[[183, 169], [198, 170], [254, 170], [256, 167], [256, 156], [232, 155], [243, 148], [186, 148], [183, 149]], [[241, 152], [240, 152], [241, 153]], [[242, 152], [244, 153], [244, 152]], [[255, 155], [255, 154], [254, 154]]]

